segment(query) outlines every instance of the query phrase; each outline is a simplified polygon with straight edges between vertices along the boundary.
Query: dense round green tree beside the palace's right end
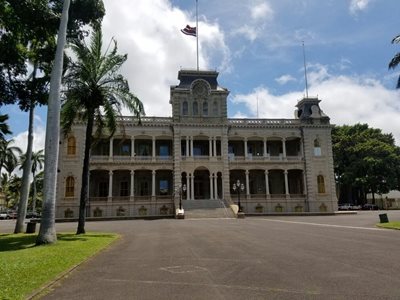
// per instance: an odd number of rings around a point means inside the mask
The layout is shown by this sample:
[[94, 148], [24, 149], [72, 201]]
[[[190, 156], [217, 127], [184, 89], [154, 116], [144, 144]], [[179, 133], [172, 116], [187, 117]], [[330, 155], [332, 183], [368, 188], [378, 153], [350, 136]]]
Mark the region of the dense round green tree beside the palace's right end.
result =
[[332, 142], [340, 202], [365, 201], [366, 193], [374, 201], [376, 193], [398, 188], [400, 156], [392, 134], [367, 124], [336, 126]]

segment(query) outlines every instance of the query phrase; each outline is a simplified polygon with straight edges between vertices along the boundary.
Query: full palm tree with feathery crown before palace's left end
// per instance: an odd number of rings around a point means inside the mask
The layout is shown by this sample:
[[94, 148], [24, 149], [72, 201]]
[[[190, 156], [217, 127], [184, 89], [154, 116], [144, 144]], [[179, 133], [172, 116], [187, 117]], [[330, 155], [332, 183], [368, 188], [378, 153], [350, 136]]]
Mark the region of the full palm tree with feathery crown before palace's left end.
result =
[[[139, 119], [144, 114], [143, 104], [129, 91], [127, 80], [118, 73], [127, 55], [117, 54], [117, 43], [112, 50], [102, 54], [102, 32], [94, 30], [90, 45], [75, 41], [71, 48], [77, 62], [71, 63], [65, 78], [68, 90], [66, 102], [62, 107], [61, 126], [67, 134], [74, 121], [86, 122], [85, 150], [80, 193], [79, 221], [77, 234], [85, 233], [85, 211], [87, 203], [89, 154], [93, 141], [93, 129], [96, 136], [107, 128], [110, 135], [117, 127], [117, 117], [123, 106], [127, 107]], [[110, 48], [110, 47], [109, 47]]]

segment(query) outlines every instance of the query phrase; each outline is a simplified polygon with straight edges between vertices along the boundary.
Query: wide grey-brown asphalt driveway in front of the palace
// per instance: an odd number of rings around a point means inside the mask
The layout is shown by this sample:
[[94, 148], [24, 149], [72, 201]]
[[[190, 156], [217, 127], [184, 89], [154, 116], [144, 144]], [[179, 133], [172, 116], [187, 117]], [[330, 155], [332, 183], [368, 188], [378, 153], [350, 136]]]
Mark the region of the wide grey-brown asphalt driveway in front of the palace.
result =
[[400, 231], [377, 229], [379, 213], [89, 222], [123, 237], [44, 299], [397, 300]]

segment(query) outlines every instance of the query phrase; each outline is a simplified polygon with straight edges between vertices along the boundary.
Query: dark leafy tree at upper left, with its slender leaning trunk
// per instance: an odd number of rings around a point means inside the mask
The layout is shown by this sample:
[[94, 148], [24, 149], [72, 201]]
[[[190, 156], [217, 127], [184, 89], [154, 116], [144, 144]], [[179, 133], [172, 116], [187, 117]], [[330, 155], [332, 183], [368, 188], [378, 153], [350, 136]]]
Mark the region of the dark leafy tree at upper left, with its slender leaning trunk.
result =
[[[33, 144], [33, 117], [37, 105], [46, 104], [56, 47], [62, 0], [0, 1], [0, 105], [17, 103], [29, 111], [28, 143], [23, 168], [20, 209], [15, 232], [23, 230], [29, 194]], [[69, 1], [68, 1], [69, 3]], [[104, 15], [101, 0], [75, 0], [69, 33], [82, 38], [84, 24], [96, 24]], [[84, 11], [77, 11], [85, 9]]]

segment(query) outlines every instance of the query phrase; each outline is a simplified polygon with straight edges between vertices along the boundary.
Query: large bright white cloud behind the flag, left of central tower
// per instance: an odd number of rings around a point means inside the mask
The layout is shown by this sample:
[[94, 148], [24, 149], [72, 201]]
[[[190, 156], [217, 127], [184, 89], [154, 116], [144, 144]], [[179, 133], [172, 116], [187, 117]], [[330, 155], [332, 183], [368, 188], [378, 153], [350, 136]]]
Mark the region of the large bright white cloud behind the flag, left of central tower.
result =
[[[171, 6], [167, 0], [106, 0], [104, 42], [118, 41], [128, 53], [123, 74], [131, 90], [144, 103], [146, 115], [168, 116], [169, 86], [178, 83], [177, 70], [196, 68], [196, 38], [180, 32], [195, 26], [193, 14]], [[199, 21], [200, 69], [230, 69], [230, 53], [217, 24]], [[211, 65], [213, 58], [221, 65]]]

